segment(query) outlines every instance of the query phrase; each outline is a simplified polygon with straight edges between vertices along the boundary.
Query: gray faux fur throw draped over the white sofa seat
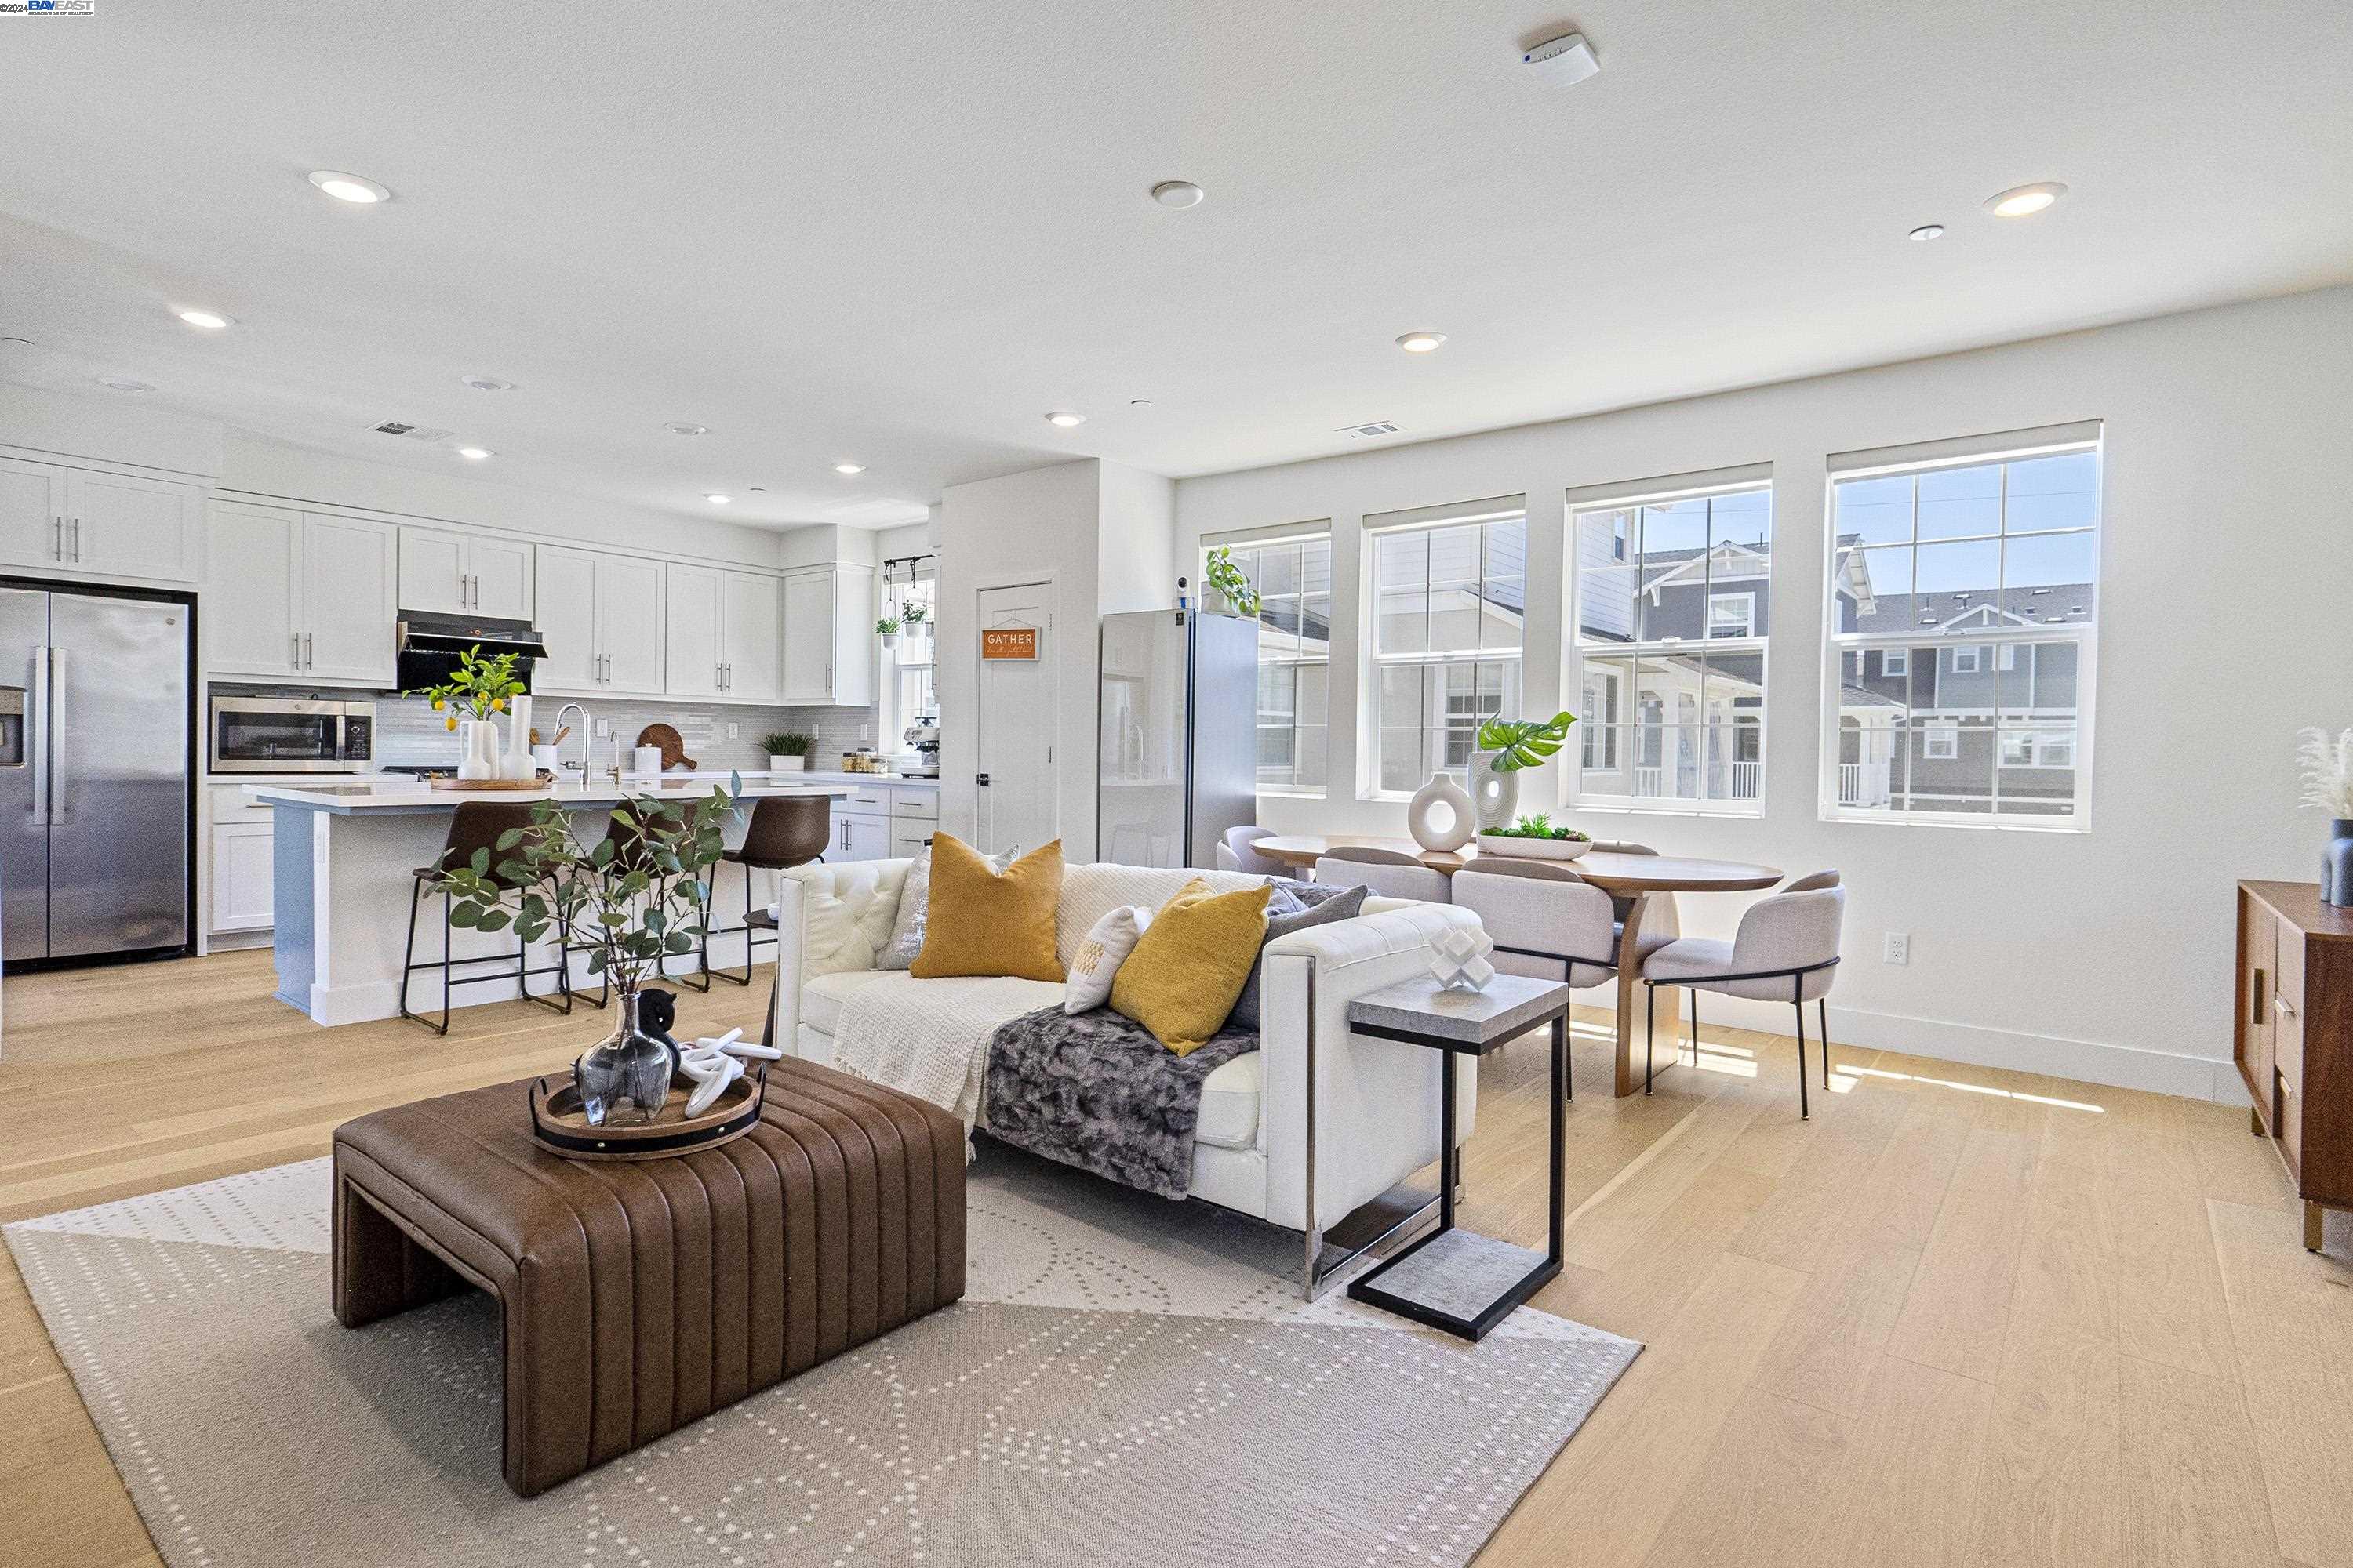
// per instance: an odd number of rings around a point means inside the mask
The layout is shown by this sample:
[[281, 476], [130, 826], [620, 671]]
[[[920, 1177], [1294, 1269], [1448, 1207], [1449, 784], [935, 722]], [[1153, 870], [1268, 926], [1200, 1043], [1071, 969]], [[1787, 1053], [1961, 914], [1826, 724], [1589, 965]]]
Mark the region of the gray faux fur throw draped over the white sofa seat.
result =
[[1176, 1056], [1111, 1009], [1024, 1013], [988, 1041], [988, 1131], [1122, 1187], [1181, 1199], [1193, 1185], [1200, 1084], [1257, 1048], [1257, 1032], [1226, 1030]]

